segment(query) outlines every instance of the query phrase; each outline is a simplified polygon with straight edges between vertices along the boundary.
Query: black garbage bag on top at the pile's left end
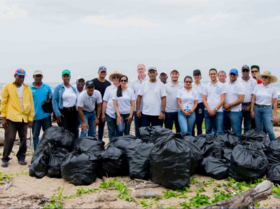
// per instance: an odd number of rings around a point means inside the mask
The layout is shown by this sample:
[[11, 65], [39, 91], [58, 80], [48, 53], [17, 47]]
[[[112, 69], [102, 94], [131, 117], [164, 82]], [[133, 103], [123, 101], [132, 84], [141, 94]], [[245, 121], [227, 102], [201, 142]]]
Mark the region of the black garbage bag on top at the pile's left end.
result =
[[31, 159], [31, 163], [33, 163], [33, 161], [35, 161], [35, 159], [37, 159], [44, 150], [48, 150], [48, 143], [50, 143], [50, 145], [57, 143], [58, 147], [63, 147], [64, 149], [71, 151], [74, 141], [75, 137], [69, 130], [59, 126], [52, 126], [48, 128], [45, 130], [41, 140], [38, 142], [34, 155]]

